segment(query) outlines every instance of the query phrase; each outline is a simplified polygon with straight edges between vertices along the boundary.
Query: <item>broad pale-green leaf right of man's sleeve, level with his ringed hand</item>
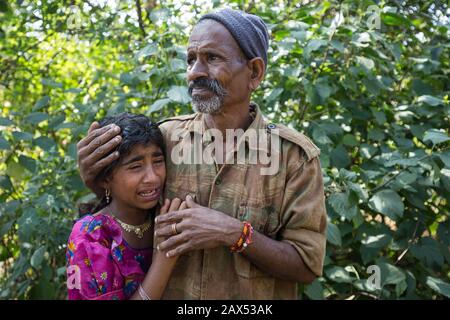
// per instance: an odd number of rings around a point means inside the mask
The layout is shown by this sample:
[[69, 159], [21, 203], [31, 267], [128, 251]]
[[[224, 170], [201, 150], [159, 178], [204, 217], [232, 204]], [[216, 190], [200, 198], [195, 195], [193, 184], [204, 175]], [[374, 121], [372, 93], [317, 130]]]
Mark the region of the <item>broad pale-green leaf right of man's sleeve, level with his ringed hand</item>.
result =
[[382, 213], [392, 220], [397, 220], [403, 216], [405, 207], [402, 198], [394, 190], [382, 190], [377, 192], [369, 200], [369, 207]]

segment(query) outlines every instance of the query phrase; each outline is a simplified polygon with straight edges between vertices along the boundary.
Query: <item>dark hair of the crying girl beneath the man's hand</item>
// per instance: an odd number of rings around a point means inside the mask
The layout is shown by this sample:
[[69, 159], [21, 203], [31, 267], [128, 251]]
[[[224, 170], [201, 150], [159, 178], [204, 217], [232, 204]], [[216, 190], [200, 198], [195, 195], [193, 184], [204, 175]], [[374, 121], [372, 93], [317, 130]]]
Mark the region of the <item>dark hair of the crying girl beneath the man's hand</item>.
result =
[[[100, 171], [95, 178], [96, 182], [109, 178], [117, 165], [121, 163], [124, 157], [130, 154], [131, 150], [135, 146], [148, 146], [150, 144], [154, 144], [161, 149], [163, 154], [165, 154], [165, 145], [161, 130], [155, 122], [152, 122], [151, 119], [142, 114], [124, 112], [115, 116], [107, 116], [100, 120], [99, 124], [100, 127], [105, 127], [110, 124], [119, 126], [122, 142], [115, 150], [111, 151], [118, 151], [119, 158]], [[81, 217], [88, 213], [94, 213], [106, 206], [106, 197], [102, 196], [98, 202], [80, 204], [78, 210], [79, 215]]]

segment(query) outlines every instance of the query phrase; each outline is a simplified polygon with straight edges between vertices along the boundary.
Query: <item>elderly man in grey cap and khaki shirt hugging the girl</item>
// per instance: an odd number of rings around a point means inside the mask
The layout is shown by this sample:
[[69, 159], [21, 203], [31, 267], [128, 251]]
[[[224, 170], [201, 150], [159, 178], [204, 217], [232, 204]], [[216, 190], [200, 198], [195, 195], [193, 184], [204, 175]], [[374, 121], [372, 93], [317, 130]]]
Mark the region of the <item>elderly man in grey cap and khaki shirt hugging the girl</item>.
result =
[[[250, 100], [265, 74], [268, 38], [262, 19], [231, 9], [203, 16], [189, 38], [187, 80], [196, 113], [160, 124], [167, 144], [165, 196], [186, 199], [189, 207], [156, 219], [156, 235], [164, 239], [158, 250], [180, 256], [166, 299], [296, 299], [297, 283], [322, 273], [326, 211], [319, 149], [303, 134], [267, 123]], [[216, 149], [212, 163], [175, 160], [175, 148], [192, 143], [187, 137], [199, 135], [205, 144], [213, 140], [212, 129], [222, 137], [227, 129], [254, 131], [258, 141], [272, 144], [276, 135], [279, 148], [270, 148], [276, 172], [262, 174], [267, 164], [248, 159], [218, 160], [254, 147], [242, 136], [231, 150]], [[180, 142], [175, 132], [189, 134], [179, 135]], [[118, 134], [94, 123], [78, 144], [81, 176], [92, 190], [98, 190], [96, 174], [115, 159]]]

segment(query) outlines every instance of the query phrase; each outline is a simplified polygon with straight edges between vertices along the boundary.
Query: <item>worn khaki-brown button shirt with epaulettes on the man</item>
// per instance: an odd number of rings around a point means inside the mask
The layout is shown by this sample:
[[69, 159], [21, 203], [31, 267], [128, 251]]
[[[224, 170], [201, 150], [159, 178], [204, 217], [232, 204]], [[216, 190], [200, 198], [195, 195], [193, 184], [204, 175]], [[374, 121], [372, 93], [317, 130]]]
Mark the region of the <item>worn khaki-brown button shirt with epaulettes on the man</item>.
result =
[[[202, 206], [250, 222], [256, 232], [291, 244], [304, 263], [320, 276], [327, 221], [320, 151], [303, 134], [283, 125], [267, 123], [259, 107], [252, 106], [256, 114], [245, 133], [249, 129], [262, 129], [258, 137], [262, 135], [269, 141], [270, 135], [277, 131], [281, 138], [278, 172], [261, 175], [261, 168], [267, 167], [263, 164], [219, 167], [216, 163], [174, 163], [175, 148], [192, 145], [186, 135], [204, 134], [203, 144], [211, 143], [211, 137], [205, 133], [202, 114], [174, 117], [160, 124], [166, 142], [165, 197], [184, 199], [191, 194]], [[185, 139], [171, 141], [171, 135], [178, 131], [186, 134]], [[239, 141], [238, 145], [245, 143], [247, 150], [254, 147], [248, 140]], [[271, 145], [268, 143], [267, 148]], [[163, 298], [297, 299], [297, 284], [274, 278], [241, 254], [218, 247], [181, 255]]]

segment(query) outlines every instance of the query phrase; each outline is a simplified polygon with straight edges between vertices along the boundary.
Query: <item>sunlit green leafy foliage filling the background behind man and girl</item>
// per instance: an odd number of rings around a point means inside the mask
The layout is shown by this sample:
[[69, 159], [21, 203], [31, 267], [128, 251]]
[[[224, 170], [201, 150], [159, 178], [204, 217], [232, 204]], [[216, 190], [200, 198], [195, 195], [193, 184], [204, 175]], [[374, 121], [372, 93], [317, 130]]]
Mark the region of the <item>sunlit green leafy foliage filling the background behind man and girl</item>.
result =
[[450, 297], [444, 2], [106, 2], [0, 0], [1, 299], [65, 298], [76, 143], [107, 113], [190, 113], [187, 37], [226, 4], [271, 30], [255, 101], [322, 150], [326, 264], [299, 298]]

